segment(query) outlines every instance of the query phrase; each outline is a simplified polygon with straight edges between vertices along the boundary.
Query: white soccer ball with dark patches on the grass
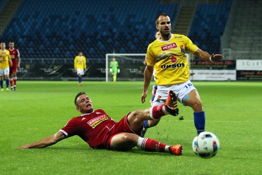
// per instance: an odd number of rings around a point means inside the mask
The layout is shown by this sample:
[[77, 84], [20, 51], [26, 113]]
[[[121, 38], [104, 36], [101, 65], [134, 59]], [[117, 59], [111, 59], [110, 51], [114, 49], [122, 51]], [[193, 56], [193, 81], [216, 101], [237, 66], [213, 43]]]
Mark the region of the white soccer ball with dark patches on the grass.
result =
[[192, 147], [198, 157], [208, 159], [216, 155], [220, 143], [212, 132], [201, 132], [194, 138]]

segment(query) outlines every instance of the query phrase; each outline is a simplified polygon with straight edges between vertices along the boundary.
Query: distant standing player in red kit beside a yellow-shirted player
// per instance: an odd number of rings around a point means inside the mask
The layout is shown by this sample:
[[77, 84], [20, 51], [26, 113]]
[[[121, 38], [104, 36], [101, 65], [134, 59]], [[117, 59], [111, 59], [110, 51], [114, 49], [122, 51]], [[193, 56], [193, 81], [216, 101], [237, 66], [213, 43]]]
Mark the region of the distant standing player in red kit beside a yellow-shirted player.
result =
[[[20, 53], [18, 49], [14, 48], [14, 42], [11, 41], [9, 43], [9, 50], [10, 52], [10, 57], [13, 63], [13, 66], [10, 67], [10, 86], [11, 86], [11, 91], [16, 90], [16, 72], [17, 72], [17, 67], [20, 67]], [[18, 62], [17, 62], [18, 59]], [[13, 84], [14, 83], [14, 84]]]

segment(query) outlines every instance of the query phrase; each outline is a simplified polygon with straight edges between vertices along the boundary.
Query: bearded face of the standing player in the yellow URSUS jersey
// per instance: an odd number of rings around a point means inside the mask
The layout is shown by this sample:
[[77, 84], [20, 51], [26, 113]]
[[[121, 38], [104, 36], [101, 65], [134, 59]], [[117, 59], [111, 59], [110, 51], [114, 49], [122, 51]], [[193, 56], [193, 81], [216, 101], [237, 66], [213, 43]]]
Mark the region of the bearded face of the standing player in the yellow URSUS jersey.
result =
[[160, 16], [156, 27], [163, 37], [169, 36], [171, 34], [170, 18], [168, 16]]

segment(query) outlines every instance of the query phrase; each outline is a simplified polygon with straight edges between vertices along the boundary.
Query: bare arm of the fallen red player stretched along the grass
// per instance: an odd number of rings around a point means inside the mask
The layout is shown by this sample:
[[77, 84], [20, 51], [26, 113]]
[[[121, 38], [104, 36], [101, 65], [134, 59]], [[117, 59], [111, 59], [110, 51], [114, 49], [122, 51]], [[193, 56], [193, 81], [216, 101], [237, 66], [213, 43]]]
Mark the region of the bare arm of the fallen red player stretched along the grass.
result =
[[57, 132], [56, 134], [52, 135], [52, 136], [48, 136], [42, 140], [39, 140], [37, 142], [31, 143], [31, 144], [27, 144], [24, 146], [20, 146], [18, 147], [19, 149], [25, 149], [25, 148], [44, 148], [44, 147], [48, 147], [51, 146], [53, 144], [56, 144], [57, 142], [65, 139], [66, 136], [62, 133], [62, 132]]

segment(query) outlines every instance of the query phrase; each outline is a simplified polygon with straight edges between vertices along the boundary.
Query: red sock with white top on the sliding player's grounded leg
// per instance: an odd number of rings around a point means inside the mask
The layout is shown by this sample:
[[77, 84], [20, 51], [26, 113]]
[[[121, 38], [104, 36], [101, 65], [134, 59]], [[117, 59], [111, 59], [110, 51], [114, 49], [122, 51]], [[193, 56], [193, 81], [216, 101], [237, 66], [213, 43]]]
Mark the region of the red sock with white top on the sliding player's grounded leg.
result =
[[165, 153], [166, 144], [158, 142], [149, 138], [139, 137], [137, 141], [137, 148], [146, 152], [161, 152]]

